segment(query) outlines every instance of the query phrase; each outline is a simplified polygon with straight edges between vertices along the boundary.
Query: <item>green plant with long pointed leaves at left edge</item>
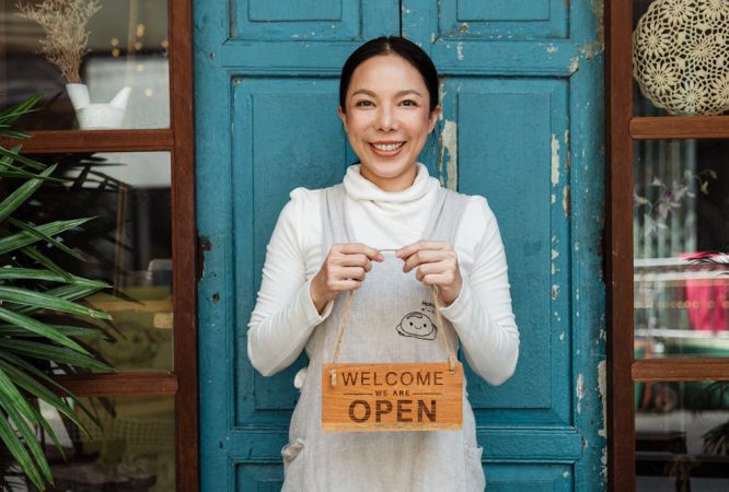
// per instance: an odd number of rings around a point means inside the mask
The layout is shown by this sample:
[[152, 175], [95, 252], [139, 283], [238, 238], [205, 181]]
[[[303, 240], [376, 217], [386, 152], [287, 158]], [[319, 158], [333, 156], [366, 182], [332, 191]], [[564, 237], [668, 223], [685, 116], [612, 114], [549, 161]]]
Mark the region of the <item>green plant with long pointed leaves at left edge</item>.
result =
[[[12, 125], [32, 112], [39, 99], [33, 96], [0, 112], [0, 137], [26, 138], [12, 130]], [[0, 441], [27, 480], [43, 490], [53, 483], [53, 477], [37, 433], [46, 435], [61, 455], [63, 452], [40, 413], [38, 401], [68, 417], [83, 432], [77, 409], [99, 423], [99, 419], [49, 373], [113, 370], [83, 342], [103, 337], [104, 332], [80, 326], [78, 321], [59, 323], [58, 315], [72, 315], [77, 319], [79, 316], [105, 320], [111, 317], [82, 304], [85, 296], [108, 288], [105, 282], [73, 276], [37, 247], [55, 247], [81, 259], [62, 243], [60, 235], [91, 219], [35, 224], [13, 216], [44, 183], [58, 181], [51, 177], [55, 165], [28, 159], [21, 150], [21, 145], [12, 149], [0, 145], [0, 196], [4, 196], [0, 201]], [[0, 470], [5, 471], [4, 464]]]

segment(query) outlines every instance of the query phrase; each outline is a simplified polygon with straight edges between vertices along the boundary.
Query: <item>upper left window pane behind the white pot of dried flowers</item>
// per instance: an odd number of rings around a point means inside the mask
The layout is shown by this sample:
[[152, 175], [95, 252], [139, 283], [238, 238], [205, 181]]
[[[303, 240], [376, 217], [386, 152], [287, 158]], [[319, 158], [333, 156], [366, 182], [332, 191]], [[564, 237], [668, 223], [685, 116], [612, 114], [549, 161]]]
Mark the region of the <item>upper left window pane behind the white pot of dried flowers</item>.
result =
[[[37, 8], [43, 0], [20, 2]], [[42, 42], [56, 38], [47, 37], [38, 22], [20, 15], [18, 1], [0, 2], [0, 102], [5, 107], [35, 93], [44, 96], [44, 110], [23, 118], [23, 129], [170, 126], [166, 0], [100, 0], [100, 5], [86, 24], [88, 54], [78, 67], [80, 82], [89, 93], [84, 101], [83, 89], [67, 90], [74, 77], [63, 77], [40, 51]], [[60, 17], [53, 22], [58, 32], [83, 28], [78, 15]], [[69, 58], [73, 57], [63, 57]], [[61, 65], [72, 73], [79, 63]], [[126, 105], [124, 87], [130, 87]], [[77, 93], [72, 103], [69, 94]], [[120, 96], [115, 99], [117, 94]], [[109, 105], [113, 99], [115, 104]]]

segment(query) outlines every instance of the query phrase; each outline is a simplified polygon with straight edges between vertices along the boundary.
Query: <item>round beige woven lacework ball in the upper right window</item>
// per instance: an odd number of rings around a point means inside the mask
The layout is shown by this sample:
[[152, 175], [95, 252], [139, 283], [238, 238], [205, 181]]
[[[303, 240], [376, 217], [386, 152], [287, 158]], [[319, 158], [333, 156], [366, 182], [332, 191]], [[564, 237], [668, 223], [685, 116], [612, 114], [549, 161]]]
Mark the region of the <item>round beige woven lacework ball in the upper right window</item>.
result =
[[633, 33], [633, 77], [673, 115], [729, 110], [729, 0], [657, 0]]

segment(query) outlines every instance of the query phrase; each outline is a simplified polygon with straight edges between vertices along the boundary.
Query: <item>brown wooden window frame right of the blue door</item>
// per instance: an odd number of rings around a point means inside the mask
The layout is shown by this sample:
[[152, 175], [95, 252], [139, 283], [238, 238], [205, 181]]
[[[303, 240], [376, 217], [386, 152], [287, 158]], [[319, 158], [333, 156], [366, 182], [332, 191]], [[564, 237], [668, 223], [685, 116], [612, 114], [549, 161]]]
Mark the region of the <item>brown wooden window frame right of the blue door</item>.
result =
[[633, 307], [633, 145], [635, 140], [726, 139], [729, 116], [633, 115], [633, 1], [605, 3], [605, 279], [608, 285], [608, 484], [636, 488], [633, 385], [728, 380], [729, 358], [635, 360]]

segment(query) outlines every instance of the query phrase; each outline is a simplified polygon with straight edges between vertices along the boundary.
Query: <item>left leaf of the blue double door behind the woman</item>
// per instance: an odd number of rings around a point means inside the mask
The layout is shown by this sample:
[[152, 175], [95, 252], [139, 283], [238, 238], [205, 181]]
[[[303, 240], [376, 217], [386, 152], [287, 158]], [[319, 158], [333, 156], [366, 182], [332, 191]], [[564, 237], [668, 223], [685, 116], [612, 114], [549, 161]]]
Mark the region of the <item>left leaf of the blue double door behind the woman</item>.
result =
[[363, 39], [400, 32], [392, 0], [195, 1], [202, 490], [280, 490], [304, 356], [274, 377], [247, 361], [266, 244], [296, 187], [355, 161], [338, 74]]

